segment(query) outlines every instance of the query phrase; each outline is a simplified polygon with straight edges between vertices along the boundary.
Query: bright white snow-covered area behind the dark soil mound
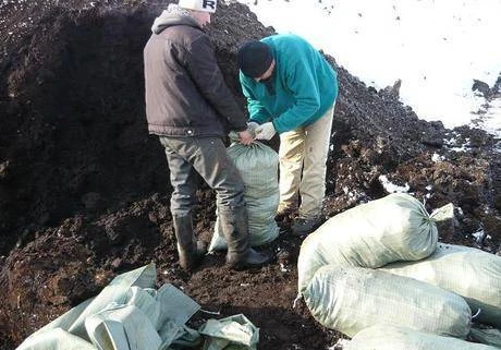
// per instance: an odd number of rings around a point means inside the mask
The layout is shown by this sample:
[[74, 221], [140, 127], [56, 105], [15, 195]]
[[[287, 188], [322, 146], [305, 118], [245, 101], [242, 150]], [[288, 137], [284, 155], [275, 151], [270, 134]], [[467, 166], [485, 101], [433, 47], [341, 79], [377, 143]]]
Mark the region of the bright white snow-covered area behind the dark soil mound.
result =
[[[295, 33], [377, 89], [402, 81], [401, 101], [445, 128], [501, 136], [501, 98], [472, 90], [501, 73], [501, 0], [239, 0], [278, 33]], [[257, 4], [255, 4], [257, 2]]]

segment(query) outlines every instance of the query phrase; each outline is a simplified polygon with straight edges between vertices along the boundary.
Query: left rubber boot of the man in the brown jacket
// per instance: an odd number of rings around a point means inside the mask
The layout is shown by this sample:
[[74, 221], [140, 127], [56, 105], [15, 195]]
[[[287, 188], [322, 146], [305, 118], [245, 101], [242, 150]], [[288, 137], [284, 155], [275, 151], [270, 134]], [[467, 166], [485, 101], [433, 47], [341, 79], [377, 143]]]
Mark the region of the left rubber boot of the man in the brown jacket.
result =
[[195, 242], [194, 240], [192, 215], [173, 215], [172, 221], [178, 239], [181, 268], [193, 270], [201, 263], [207, 248], [203, 242]]

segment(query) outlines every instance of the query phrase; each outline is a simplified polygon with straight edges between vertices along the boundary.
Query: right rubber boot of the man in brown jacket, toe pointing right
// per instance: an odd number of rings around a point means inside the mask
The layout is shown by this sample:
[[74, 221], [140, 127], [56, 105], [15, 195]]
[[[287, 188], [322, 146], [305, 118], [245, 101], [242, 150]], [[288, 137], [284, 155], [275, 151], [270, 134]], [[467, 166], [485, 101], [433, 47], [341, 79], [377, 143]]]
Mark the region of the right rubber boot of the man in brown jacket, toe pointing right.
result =
[[272, 257], [259, 253], [248, 243], [248, 217], [245, 206], [234, 210], [219, 210], [222, 234], [228, 243], [227, 264], [231, 268], [259, 267]]

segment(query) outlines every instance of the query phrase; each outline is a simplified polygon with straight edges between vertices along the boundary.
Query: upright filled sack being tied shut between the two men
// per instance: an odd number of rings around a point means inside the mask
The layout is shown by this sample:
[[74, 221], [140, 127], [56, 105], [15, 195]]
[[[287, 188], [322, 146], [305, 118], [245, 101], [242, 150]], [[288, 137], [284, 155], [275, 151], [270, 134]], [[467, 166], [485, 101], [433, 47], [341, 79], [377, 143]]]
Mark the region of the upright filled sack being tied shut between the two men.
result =
[[[260, 142], [249, 146], [233, 143], [227, 152], [245, 184], [249, 243], [252, 246], [270, 243], [279, 236], [279, 227], [274, 221], [280, 201], [277, 170], [279, 155]], [[218, 218], [209, 251], [224, 249], [227, 241]]]

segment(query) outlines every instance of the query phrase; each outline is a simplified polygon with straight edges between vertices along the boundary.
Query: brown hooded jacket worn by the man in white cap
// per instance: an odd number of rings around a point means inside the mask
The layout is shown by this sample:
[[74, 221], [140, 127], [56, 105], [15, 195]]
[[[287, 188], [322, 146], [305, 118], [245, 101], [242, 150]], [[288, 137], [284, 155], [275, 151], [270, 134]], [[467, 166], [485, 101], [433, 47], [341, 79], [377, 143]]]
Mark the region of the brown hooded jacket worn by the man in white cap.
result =
[[192, 17], [163, 11], [144, 49], [148, 131], [163, 136], [223, 136], [246, 129], [209, 37]]

